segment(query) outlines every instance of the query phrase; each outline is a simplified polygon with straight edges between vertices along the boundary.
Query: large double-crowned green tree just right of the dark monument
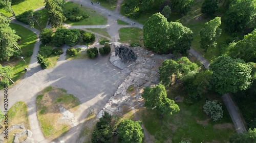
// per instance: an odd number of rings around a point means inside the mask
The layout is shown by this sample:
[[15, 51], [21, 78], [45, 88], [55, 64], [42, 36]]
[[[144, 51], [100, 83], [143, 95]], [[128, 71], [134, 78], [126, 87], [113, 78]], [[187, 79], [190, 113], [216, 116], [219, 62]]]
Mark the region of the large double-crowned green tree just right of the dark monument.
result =
[[156, 13], [143, 26], [144, 45], [157, 53], [176, 51], [185, 53], [190, 48], [193, 32], [179, 22], [168, 22]]

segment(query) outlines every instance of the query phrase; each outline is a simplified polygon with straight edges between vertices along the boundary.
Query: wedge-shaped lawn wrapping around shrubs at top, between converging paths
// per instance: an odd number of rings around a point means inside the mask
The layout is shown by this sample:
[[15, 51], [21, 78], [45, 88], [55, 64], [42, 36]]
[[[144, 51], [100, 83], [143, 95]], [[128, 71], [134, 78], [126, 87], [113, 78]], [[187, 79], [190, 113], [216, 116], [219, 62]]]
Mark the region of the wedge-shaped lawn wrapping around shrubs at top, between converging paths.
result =
[[87, 13], [90, 15], [89, 18], [83, 19], [81, 21], [70, 21], [67, 20], [65, 23], [68, 23], [70, 25], [104, 25], [107, 23], [107, 20], [102, 14], [96, 12], [95, 10], [92, 10], [88, 7], [85, 6], [80, 6], [79, 4], [68, 2], [65, 4], [65, 9], [66, 10], [71, 10], [75, 7], [78, 7], [79, 10]]

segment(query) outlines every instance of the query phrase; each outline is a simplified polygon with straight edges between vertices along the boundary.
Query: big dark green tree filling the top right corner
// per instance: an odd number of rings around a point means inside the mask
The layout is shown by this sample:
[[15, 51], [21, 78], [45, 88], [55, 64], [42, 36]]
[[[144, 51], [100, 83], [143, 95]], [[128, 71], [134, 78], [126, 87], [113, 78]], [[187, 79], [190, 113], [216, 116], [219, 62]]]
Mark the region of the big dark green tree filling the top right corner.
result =
[[229, 32], [243, 32], [248, 28], [256, 28], [256, 0], [231, 1], [226, 14], [225, 23]]

